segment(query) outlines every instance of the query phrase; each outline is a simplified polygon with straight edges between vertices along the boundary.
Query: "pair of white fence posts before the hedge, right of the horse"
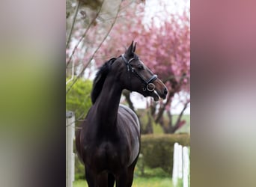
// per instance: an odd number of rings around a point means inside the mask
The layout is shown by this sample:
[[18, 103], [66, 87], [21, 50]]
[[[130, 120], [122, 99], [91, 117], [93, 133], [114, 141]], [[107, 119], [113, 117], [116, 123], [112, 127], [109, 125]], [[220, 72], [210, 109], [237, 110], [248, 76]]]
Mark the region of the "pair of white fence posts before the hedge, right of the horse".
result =
[[174, 166], [172, 171], [172, 182], [177, 187], [178, 180], [183, 181], [183, 187], [189, 187], [189, 149], [180, 144], [174, 144]]

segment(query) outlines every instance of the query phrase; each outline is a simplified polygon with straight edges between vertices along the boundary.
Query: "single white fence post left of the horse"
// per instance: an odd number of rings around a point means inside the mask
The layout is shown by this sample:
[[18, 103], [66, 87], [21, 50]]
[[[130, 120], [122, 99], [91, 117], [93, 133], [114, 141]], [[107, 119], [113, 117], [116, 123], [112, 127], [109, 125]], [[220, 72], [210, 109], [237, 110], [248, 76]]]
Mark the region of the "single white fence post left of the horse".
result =
[[72, 187], [75, 180], [75, 154], [73, 140], [75, 138], [75, 114], [66, 111], [66, 187]]

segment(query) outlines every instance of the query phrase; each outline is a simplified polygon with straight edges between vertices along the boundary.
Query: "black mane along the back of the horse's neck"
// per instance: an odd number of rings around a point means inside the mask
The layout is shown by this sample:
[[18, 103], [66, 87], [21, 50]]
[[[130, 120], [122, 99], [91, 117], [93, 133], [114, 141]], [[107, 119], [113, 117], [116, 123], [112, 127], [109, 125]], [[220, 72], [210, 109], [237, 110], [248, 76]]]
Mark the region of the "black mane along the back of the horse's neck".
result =
[[108, 76], [108, 73], [111, 70], [111, 65], [115, 60], [116, 58], [111, 58], [109, 61], [106, 61], [102, 67], [100, 67], [100, 70], [98, 70], [94, 79], [93, 89], [91, 91], [91, 102], [93, 104], [100, 95], [106, 76]]

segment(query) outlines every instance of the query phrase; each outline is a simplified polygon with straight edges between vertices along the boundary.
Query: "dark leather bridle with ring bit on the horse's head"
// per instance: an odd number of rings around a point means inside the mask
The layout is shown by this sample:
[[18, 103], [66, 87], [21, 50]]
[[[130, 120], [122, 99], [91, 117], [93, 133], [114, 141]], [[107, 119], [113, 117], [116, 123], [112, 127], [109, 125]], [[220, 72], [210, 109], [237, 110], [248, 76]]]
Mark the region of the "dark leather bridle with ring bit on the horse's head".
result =
[[[155, 90], [155, 85], [153, 85], [153, 82], [157, 79], [156, 75], [153, 75], [150, 79], [148, 79], [147, 81], [145, 79], [143, 79], [143, 77], [141, 76], [140, 73], [138, 73], [137, 71], [135, 71], [134, 68], [131, 67], [130, 62], [133, 61], [135, 58], [130, 58], [129, 61], [127, 61], [127, 58], [124, 57], [124, 54], [121, 55], [124, 63], [127, 65], [127, 70], [128, 73], [132, 72], [135, 73], [135, 76], [138, 77], [138, 79], [141, 80], [141, 82], [144, 83], [144, 88], [142, 88], [143, 91], [154, 91]], [[152, 87], [152, 88], [150, 88]]]

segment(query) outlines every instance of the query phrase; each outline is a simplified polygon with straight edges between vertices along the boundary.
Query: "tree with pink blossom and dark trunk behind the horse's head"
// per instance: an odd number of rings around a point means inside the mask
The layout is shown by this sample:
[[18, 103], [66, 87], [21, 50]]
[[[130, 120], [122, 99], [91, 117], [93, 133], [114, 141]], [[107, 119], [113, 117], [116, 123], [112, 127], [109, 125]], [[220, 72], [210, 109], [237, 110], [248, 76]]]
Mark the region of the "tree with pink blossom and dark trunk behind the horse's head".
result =
[[[144, 4], [134, 5], [121, 11], [107, 40], [96, 54], [95, 61], [102, 64], [112, 56], [124, 52], [124, 46], [137, 42], [136, 53], [142, 61], [156, 73], [168, 87], [167, 99], [160, 102], [148, 102], [147, 115], [154, 120], [165, 133], [174, 133], [185, 123], [181, 120], [183, 112], [188, 107], [190, 99], [183, 102], [177, 120], [173, 122], [171, 115], [171, 102], [175, 93], [189, 93], [190, 82], [190, 9], [184, 9], [182, 14], [169, 13], [166, 8], [165, 19], [156, 24], [156, 19], [144, 23]], [[124, 45], [124, 46], [122, 46]], [[129, 93], [124, 93], [131, 108], [132, 102]], [[168, 120], [163, 117], [166, 112]], [[146, 127], [146, 132], [153, 132], [151, 122]]]

